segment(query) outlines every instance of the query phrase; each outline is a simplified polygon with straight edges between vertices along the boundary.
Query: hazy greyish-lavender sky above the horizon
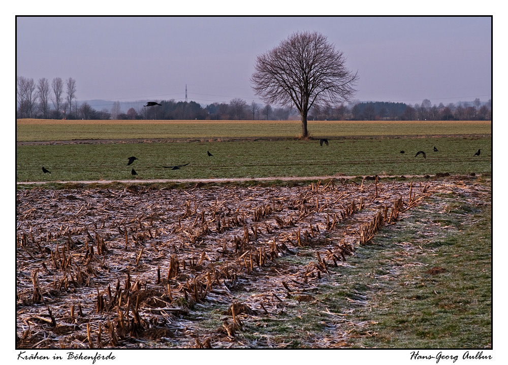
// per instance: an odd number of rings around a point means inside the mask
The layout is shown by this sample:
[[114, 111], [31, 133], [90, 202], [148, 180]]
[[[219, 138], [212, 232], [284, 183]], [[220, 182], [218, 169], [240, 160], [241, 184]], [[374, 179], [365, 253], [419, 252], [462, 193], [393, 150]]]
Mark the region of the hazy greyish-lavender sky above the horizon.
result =
[[[355, 99], [492, 98], [490, 17], [18, 17], [16, 74], [76, 80], [77, 99], [262, 103], [256, 56], [318, 31], [360, 77]], [[108, 107], [108, 106], [106, 106]]]

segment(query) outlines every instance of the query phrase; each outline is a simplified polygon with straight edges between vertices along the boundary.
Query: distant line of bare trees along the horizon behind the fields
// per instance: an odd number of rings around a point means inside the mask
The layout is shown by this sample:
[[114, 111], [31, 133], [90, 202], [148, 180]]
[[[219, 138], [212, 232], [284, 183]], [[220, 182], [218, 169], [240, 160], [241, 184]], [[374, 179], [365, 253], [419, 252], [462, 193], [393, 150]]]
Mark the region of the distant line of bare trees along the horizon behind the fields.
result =
[[[38, 119], [161, 119], [161, 120], [288, 120], [297, 116], [290, 107], [248, 104], [234, 98], [229, 103], [213, 103], [202, 107], [199, 103], [160, 101], [162, 106], [130, 108], [121, 111], [120, 102], [101, 111], [88, 103], [77, 102], [76, 80], [59, 77], [51, 82], [46, 78], [16, 77], [16, 118]], [[295, 117], [295, 119], [298, 119]], [[406, 105], [391, 102], [356, 102], [348, 105], [313, 107], [309, 120], [491, 120], [492, 100], [485, 104], [474, 102], [432, 105], [429, 99], [421, 104]]]

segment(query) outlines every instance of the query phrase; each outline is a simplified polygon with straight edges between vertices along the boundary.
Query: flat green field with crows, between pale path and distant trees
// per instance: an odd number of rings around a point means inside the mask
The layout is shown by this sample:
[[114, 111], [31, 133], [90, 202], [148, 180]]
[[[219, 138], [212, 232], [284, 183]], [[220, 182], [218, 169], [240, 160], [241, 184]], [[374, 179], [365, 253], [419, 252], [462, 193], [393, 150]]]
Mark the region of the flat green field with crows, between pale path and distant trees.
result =
[[[288, 136], [256, 140], [253, 138], [255, 137], [253, 133], [258, 128], [253, 126], [258, 125], [256, 122], [231, 123], [233, 125], [240, 123], [245, 126], [244, 138], [237, 137], [236, 140], [221, 141], [221, 138], [228, 137], [229, 129], [224, 129], [224, 126], [230, 125], [230, 123], [202, 123], [200, 126], [206, 126], [208, 130], [216, 126], [217, 136], [215, 138], [187, 139], [179, 138], [180, 132], [168, 136], [161, 131], [160, 134], [147, 134], [146, 138], [174, 138], [174, 140], [171, 142], [147, 141], [146, 143], [18, 145], [16, 149], [16, 180], [18, 182], [126, 180], [133, 179], [132, 168], [138, 173], [137, 180], [374, 174], [435, 175], [445, 172], [450, 174], [469, 174], [471, 172], [490, 174], [492, 172], [491, 137], [479, 135], [480, 131], [486, 134], [490, 132], [490, 123], [461, 125], [455, 122], [442, 127], [442, 134], [454, 134], [455, 137], [440, 137], [435, 129], [423, 122], [398, 123], [403, 137], [382, 135], [378, 138], [354, 138], [349, 135], [340, 136], [339, 132], [336, 132], [338, 136], [329, 137], [330, 145], [323, 147], [315, 140], [299, 140]], [[325, 124], [327, 122], [316, 123]], [[116, 123], [110, 124], [115, 128], [120, 128]], [[174, 124], [178, 129], [183, 128], [186, 123]], [[198, 123], [192, 122], [190, 124], [196, 127]], [[274, 124], [279, 128], [277, 132], [274, 132], [274, 135], [278, 137], [287, 134], [285, 128], [288, 125], [295, 127], [295, 122], [269, 124]], [[333, 125], [341, 131], [339, 125], [335, 124], [328, 122], [327, 125], [328, 127]], [[347, 124], [350, 127], [355, 125], [353, 122], [347, 122]], [[431, 125], [434, 124], [431, 123]], [[42, 124], [18, 124], [18, 140], [28, 141], [30, 138], [20, 130], [23, 129], [19, 128], [20, 125], [23, 125], [23, 128], [29, 125], [31, 129], [37, 130], [46, 124], [44, 122]], [[153, 126], [149, 125], [150, 128]], [[370, 127], [367, 128], [367, 126]], [[62, 126], [60, 125], [60, 127]], [[75, 139], [89, 138], [87, 132], [81, 131], [74, 124], [63, 127], [70, 129], [69, 132]], [[296, 127], [295, 135], [298, 133], [298, 123]], [[373, 122], [358, 122], [356, 127], [358, 136], [375, 135], [379, 132], [379, 125]], [[408, 137], [411, 135], [420, 136], [426, 127], [428, 127], [428, 137]], [[131, 126], [121, 125], [121, 128], [130, 130]], [[345, 132], [352, 133], [353, 129], [345, 128]], [[316, 135], [315, 130], [320, 129], [309, 126], [309, 130], [311, 135]], [[396, 131], [391, 130], [390, 136]], [[34, 132], [34, 134], [37, 133]], [[38, 135], [46, 136], [43, 130], [40, 130]], [[55, 141], [67, 140], [69, 137], [67, 132], [58, 132], [48, 136], [52, 136]], [[325, 129], [320, 136], [333, 135], [330, 129]], [[111, 136], [104, 132], [104, 134], [96, 134], [94, 138], [107, 139], [108, 137]], [[439, 152], [433, 152], [434, 146], [439, 149]], [[473, 156], [478, 149], [482, 149], [481, 155]], [[401, 154], [401, 150], [404, 150], [405, 153]], [[416, 152], [420, 150], [427, 153], [426, 159], [422, 155], [415, 157]], [[207, 151], [210, 151], [213, 157], [208, 157]], [[129, 156], [138, 158], [130, 166], [127, 165]], [[187, 162], [189, 165], [175, 171], [162, 168], [162, 165]], [[51, 174], [43, 174], [42, 166], [51, 171]]]

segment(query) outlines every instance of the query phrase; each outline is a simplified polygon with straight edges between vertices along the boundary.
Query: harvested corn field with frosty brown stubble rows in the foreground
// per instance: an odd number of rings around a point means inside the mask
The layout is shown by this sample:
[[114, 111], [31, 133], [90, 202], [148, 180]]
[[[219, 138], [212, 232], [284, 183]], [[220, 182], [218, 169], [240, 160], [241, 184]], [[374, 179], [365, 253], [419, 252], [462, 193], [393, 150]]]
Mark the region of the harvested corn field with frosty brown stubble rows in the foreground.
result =
[[[19, 190], [16, 346], [276, 347], [245, 334], [314, 301], [330, 268], [347, 265], [380, 227], [473, 185]], [[220, 324], [200, 326], [220, 306]]]

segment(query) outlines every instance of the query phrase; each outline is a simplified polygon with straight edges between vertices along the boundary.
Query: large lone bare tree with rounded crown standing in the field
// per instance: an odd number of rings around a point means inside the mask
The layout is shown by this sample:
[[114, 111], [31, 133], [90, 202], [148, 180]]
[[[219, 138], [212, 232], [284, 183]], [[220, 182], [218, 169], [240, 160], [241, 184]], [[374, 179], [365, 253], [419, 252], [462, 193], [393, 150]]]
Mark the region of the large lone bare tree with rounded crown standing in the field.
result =
[[318, 32], [297, 32], [257, 57], [251, 82], [268, 103], [295, 105], [302, 120], [302, 137], [308, 137], [307, 116], [316, 105], [348, 101], [358, 73], [345, 68], [345, 57]]

